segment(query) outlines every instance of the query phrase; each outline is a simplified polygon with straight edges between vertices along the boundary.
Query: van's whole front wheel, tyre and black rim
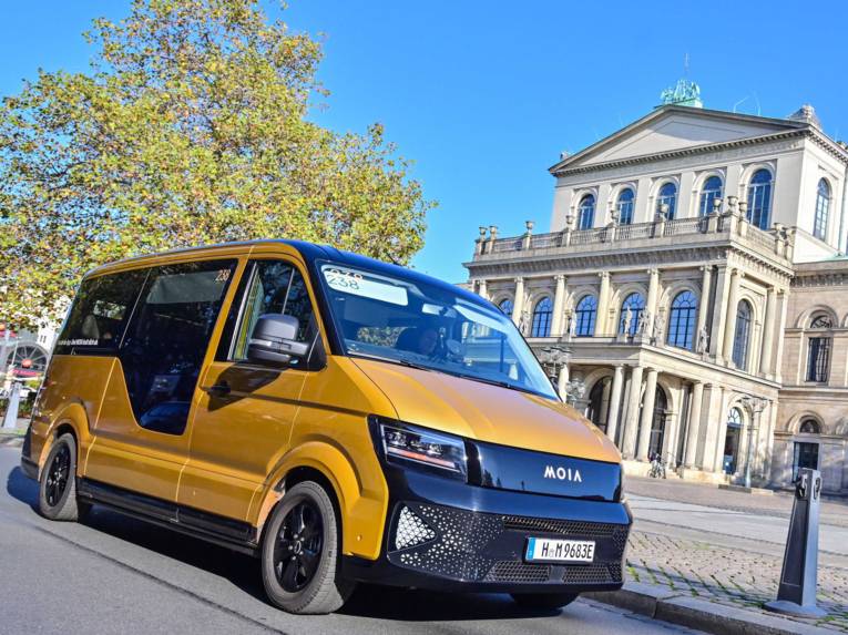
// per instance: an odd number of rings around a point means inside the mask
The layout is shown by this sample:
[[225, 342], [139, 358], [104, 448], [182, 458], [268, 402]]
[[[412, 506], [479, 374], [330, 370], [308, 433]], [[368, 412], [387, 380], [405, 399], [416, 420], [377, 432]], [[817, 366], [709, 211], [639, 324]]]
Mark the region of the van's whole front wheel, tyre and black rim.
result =
[[262, 580], [270, 601], [297, 614], [340, 608], [355, 586], [339, 576], [340, 542], [336, 510], [324, 488], [304, 481], [288, 490], [262, 545]]

